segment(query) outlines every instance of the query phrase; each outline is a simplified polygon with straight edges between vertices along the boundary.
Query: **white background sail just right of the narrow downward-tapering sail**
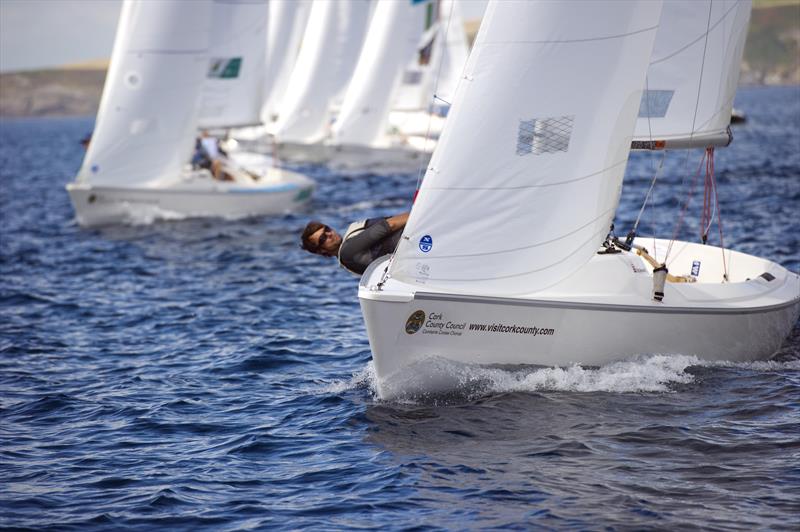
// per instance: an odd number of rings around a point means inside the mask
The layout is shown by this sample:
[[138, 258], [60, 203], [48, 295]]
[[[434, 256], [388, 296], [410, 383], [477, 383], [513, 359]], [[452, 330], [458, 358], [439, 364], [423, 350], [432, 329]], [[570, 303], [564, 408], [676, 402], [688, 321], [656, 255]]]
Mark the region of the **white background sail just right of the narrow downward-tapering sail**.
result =
[[315, 142], [327, 133], [331, 106], [353, 74], [369, 19], [369, 0], [315, 0], [275, 135]]

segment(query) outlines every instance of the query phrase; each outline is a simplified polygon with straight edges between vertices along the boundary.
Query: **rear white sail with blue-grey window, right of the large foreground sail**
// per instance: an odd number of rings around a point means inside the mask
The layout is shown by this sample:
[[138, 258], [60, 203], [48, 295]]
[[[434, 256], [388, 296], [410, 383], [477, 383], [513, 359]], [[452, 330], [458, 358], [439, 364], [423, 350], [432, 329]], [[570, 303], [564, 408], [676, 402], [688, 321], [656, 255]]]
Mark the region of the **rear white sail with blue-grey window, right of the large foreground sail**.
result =
[[730, 142], [749, 0], [670, 0], [647, 73], [635, 141], [668, 148]]

